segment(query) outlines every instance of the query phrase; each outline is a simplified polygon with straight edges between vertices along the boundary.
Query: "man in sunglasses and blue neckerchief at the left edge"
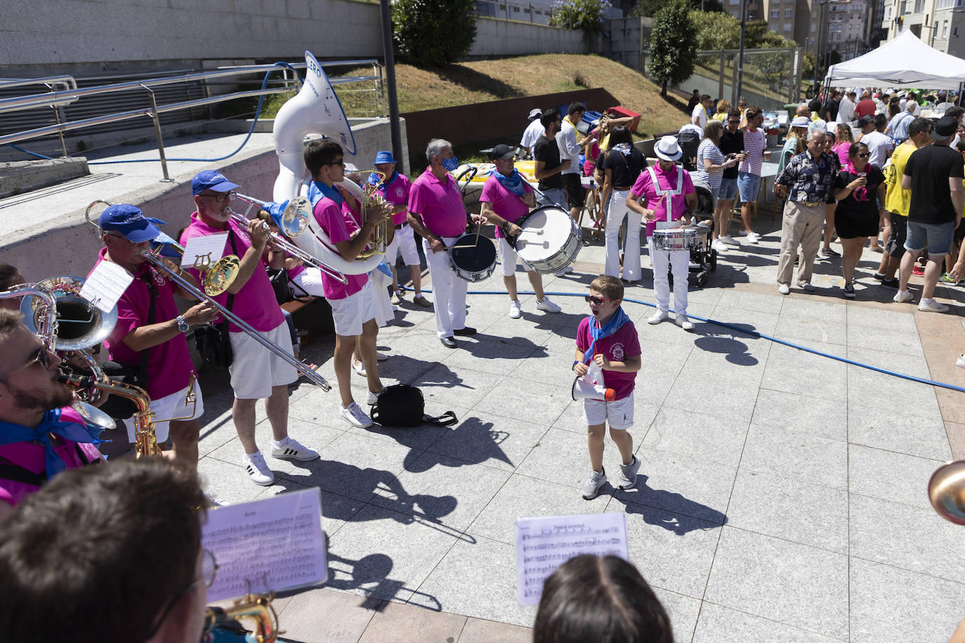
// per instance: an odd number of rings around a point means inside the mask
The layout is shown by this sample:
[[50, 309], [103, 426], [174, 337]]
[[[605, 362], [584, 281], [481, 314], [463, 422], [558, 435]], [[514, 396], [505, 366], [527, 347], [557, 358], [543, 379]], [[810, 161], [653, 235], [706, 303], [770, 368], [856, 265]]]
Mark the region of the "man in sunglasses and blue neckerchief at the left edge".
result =
[[64, 469], [100, 462], [96, 433], [69, 407], [61, 359], [0, 308], [0, 522]]

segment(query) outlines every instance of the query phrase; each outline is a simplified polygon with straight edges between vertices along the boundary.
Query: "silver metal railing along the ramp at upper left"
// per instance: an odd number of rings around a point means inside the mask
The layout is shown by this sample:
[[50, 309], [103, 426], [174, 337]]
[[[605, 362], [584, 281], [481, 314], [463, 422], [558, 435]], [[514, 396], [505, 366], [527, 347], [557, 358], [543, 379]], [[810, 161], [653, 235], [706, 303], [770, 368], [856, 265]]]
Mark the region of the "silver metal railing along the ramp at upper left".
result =
[[[381, 64], [375, 59], [365, 59], [365, 60], [346, 60], [346, 61], [330, 61], [327, 63], [322, 63], [321, 67], [358, 67], [372, 65], [372, 75], [368, 76], [347, 76], [339, 78], [330, 78], [332, 85], [345, 85], [349, 83], [359, 83], [359, 82], [372, 82], [373, 87], [371, 90], [358, 90], [363, 92], [372, 92], [375, 99], [375, 112], [377, 116], [382, 116], [382, 105], [384, 104], [384, 76], [382, 73]], [[67, 147], [64, 142], [64, 132], [83, 129], [85, 127], [92, 127], [95, 125], [101, 125], [105, 123], [128, 121], [138, 118], [149, 118], [152, 120], [154, 128], [154, 138], [157, 141], [157, 151], [159, 160], [161, 162], [161, 171], [164, 175], [162, 180], [170, 181], [171, 177], [168, 174], [167, 158], [164, 153], [164, 141], [161, 134], [161, 126], [159, 121], [159, 116], [161, 114], [166, 114], [170, 112], [176, 112], [179, 110], [190, 109], [193, 107], [199, 107], [204, 105], [212, 105], [215, 103], [226, 102], [229, 100], [235, 100], [238, 98], [248, 98], [255, 96], [264, 96], [269, 94], [288, 94], [296, 93], [301, 87], [301, 80], [298, 74], [295, 72], [296, 69], [304, 69], [305, 63], [292, 63], [292, 64], [275, 64], [275, 65], [248, 65], [241, 67], [219, 67], [218, 69], [212, 69], [210, 71], [192, 71], [189, 73], [179, 73], [177, 75], [164, 75], [155, 78], [133, 80], [122, 83], [113, 83], [109, 85], [98, 85], [95, 87], [87, 87], [83, 89], [78, 89], [76, 81], [71, 76], [55, 76], [48, 78], [33, 78], [33, 79], [10, 79], [10, 80], [0, 80], [0, 89], [14, 87], [14, 86], [27, 86], [27, 85], [46, 85], [53, 89], [57, 84], [67, 85], [67, 90], [51, 91], [43, 94], [28, 94], [23, 96], [16, 96], [13, 98], [3, 98], [0, 99], [0, 113], [10, 113], [17, 112], [21, 110], [37, 109], [39, 107], [53, 107], [55, 108], [55, 113], [58, 114], [57, 123], [53, 125], [46, 125], [43, 127], [34, 127], [32, 129], [27, 129], [19, 132], [14, 132], [11, 134], [0, 135], [0, 145], [13, 144], [20, 141], [28, 141], [31, 139], [39, 139], [52, 134], [57, 134], [60, 136], [61, 147], [64, 151], [64, 157], [69, 156]], [[182, 100], [179, 102], [166, 103], [163, 105], [158, 105], [154, 88], [172, 85], [172, 84], [184, 84], [192, 82], [204, 82], [206, 85], [208, 81], [221, 78], [232, 78], [236, 76], [244, 76], [247, 74], [270, 74], [273, 71], [283, 72], [283, 78], [280, 81], [281, 85], [275, 85], [274, 87], [264, 86], [264, 89], [259, 90], [245, 90], [237, 91], [229, 94], [216, 94], [208, 95], [204, 98], [196, 98], [192, 100]], [[291, 76], [289, 75], [291, 72]], [[265, 81], [267, 82], [267, 81]], [[93, 117], [89, 119], [81, 119], [77, 121], [67, 121], [62, 122], [62, 117], [57, 111], [58, 108], [68, 105], [76, 100], [79, 100], [85, 96], [92, 96], [97, 94], [114, 94], [120, 92], [129, 92], [131, 90], [144, 90], [148, 93], [151, 100], [150, 109], [135, 109], [128, 110], [124, 112], [116, 112], [113, 114], [107, 114], [104, 116]], [[348, 90], [351, 92], [352, 90]]]

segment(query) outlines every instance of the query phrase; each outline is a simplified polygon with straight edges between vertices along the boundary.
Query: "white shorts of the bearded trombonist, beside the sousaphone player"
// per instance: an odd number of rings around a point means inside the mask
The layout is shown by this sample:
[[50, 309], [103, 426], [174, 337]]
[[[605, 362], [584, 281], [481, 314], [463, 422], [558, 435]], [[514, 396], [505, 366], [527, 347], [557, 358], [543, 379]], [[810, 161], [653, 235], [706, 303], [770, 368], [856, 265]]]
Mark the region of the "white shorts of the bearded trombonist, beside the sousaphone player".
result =
[[[291, 335], [284, 321], [275, 329], [260, 333], [289, 355]], [[247, 333], [229, 333], [234, 358], [228, 372], [232, 374], [234, 397], [239, 400], [262, 400], [271, 397], [272, 387], [290, 385], [298, 379], [298, 371]]]

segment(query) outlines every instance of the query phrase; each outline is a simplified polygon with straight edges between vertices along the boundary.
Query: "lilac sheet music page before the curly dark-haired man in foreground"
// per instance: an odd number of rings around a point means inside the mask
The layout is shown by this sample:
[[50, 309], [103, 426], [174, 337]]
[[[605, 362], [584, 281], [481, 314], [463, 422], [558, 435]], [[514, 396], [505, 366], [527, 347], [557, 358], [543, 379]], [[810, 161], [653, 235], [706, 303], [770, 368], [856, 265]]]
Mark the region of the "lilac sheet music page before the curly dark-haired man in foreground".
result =
[[201, 540], [219, 565], [208, 601], [317, 585], [328, 576], [317, 487], [210, 509]]

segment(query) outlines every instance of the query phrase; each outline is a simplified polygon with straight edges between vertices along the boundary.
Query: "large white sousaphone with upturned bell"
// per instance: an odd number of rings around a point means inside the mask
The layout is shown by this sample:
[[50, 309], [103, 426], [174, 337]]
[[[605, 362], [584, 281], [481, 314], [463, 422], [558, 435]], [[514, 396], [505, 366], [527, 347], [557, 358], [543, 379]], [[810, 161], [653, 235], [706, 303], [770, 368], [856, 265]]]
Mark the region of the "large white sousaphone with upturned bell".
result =
[[[339, 97], [332, 89], [328, 76], [318, 64], [312, 52], [305, 52], [305, 82], [298, 94], [282, 105], [275, 117], [273, 130], [275, 153], [278, 155], [278, 177], [275, 179], [273, 199], [288, 201], [297, 196], [307, 196], [305, 186], [305, 136], [321, 134], [337, 141], [350, 154], [355, 153], [355, 138], [345, 117]], [[369, 196], [354, 181], [345, 179], [336, 185], [342, 187], [360, 203], [368, 203]], [[364, 219], [363, 219], [364, 221]], [[383, 228], [379, 226], [378, 228]], [[389, 228], [392, 228], [391, 224]], [[308, 230], [293, 239], [296, 246], [320, 259], [345, 275], [361, 275], [371, 271], [382, 260], [385, 246], [391, 237], [383, 230], [381, 239], [375, 239], [371, 255], [347, 261], [335, 249], [328, 234], [318, 225], [315, 217], [309, 217]], [[377, 250], [381, 248], [381, 251]]]

